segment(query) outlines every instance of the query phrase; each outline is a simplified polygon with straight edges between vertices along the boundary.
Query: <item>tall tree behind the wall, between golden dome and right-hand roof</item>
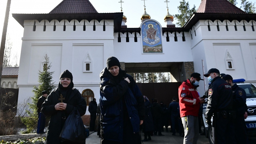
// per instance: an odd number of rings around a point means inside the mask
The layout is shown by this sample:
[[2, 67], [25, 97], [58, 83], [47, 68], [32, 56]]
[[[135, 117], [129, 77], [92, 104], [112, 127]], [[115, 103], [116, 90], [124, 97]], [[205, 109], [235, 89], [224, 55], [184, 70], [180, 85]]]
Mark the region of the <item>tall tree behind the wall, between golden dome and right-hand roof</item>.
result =
[[196, 6], [194, 5], [194, 7], [190, 10], [188, 2], [186, 3], [185, 0], [182, 0], [182, 2], [180, 2], [180, 6], [178, 6], [178, 9], [180, 14], [174, 15], [174, 17], [178, 21], [176, 25], [183, 27], [186, 24], [186, 22], [190, 19], [192, 14], [196, 12]]

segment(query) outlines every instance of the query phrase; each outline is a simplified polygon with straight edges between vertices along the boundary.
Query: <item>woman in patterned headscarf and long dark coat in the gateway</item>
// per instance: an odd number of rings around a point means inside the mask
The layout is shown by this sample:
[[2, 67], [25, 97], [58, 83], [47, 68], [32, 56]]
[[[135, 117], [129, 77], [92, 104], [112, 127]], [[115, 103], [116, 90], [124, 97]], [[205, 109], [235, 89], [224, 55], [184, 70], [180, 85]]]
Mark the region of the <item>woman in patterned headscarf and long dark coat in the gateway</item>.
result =
[[151, 114], [151, 104], [146, 96], [143, 96], [145, 104], [145, 118], [142, 125], [142, 132], [144, 132], [144, 140], [151, 140], [151, 132], [154, 131], [153, 117]]

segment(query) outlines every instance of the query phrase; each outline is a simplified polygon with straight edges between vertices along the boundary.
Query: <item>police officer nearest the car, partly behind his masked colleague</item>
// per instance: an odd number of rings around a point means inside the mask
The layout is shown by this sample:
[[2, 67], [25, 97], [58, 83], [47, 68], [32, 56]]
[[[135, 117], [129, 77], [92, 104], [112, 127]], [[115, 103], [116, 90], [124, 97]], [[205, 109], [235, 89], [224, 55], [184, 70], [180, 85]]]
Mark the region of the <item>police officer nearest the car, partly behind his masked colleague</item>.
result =
[[236, 111], [235, 130], [236, 130], [236, 141], [238, 144], [247, 143], [246, 125], [244, 122], [244, 114], [246, 106], [246, 93], [244, 89], [239, 87], [237, 84], [233, 84], [233, 77], [230, 75], [222, 76], [233, 91], [233, 109]]

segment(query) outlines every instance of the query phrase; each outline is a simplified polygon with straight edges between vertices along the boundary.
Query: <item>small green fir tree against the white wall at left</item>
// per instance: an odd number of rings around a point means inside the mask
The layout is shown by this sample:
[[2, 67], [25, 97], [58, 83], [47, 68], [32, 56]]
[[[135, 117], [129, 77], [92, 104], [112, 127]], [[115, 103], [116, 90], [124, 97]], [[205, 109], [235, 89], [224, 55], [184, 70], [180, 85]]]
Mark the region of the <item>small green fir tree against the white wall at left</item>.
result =
[[21, 118], [21, 121], [27, 126], [28, 133], [36, 132], [37, 120], [38, 120], [36, 104], [39, 97], [42, 96], [42, 91], [47, 91], [47, 93], [49, 94], [54, 89], [54, 86], [53, 86], [54, 82], [52, 82], [52, 74], [54, 72], [48, 71], [51, 68], [51, 64], [48, 65], [49, 57], [47, 57], [46, 55], [44, 59], [45, 61], [44, 63], [42, 63], [44, 70], [43, 71], [39, 70], [39, 73], [38, 73], [39, 86], [38, 87], [34, 86], [34, 90], [33, 90], [34, 96], [31, 97], [32, 103], [28, 104], [31, 111], [26, 111], [28, 114], [28, 117]]

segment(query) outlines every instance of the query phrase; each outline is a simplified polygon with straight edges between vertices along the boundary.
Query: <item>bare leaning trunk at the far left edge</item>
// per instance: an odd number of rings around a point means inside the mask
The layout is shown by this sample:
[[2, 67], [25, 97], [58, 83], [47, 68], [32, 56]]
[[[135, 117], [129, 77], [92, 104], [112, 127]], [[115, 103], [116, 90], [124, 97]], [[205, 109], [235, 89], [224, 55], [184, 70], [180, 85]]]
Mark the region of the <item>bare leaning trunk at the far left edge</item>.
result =
[[4, 48], [5, 48], [5, 40], [6, 40], [8, 19], [9, 19], [9, 13], [10, 13], [10, 6], [11, 6], [11, 0], [8, 0], [7, 5], [6, 5], [6, 11], [5, 11], [5, 17], [4, 17], [4, 28], [3, 28], [3, 33], [2, 33], [1, 47], [0, 47], [0, 85], [1, 85], [1, 80], [2, 80]]

